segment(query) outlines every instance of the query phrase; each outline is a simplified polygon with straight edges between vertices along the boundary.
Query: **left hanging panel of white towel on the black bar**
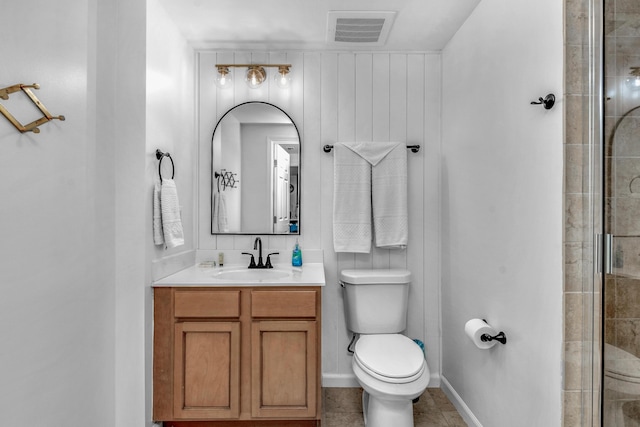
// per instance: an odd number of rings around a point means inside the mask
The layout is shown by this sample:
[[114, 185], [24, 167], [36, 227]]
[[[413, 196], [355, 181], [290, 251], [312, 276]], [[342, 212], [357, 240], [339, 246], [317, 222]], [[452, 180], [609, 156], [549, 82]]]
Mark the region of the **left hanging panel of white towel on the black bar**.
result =
[[371, 166], [343, 144], [333, 146], [333, 247], [371, 251]]

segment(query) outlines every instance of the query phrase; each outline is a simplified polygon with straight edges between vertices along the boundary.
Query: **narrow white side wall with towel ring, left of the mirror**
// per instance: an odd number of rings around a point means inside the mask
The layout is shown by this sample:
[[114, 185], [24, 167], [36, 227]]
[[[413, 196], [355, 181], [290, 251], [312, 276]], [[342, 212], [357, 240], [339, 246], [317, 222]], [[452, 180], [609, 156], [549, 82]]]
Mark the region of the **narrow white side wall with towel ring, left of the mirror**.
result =
[[[147, 422], [151, 419], [152, 409], [152, 367], [153, 367], [153, 295], [150, 287], [154, 266], [161, 265], [163, 274], [173, 273], [195, 262], [195, 194], [196, 194], [196, 152], [195, 140], [195, 52], [180, 34], [171, 17], [157, 0], [147, 2], [146, 27], [146, 137], [144, 140], [144, 212], [142, 225], [146, 257], [144, 281], [144, 364], [146, 384]], [[143, 57], [144, 58], [144, 57]], [[181, 206], [182, 227], [185, 243], [176, 248], [167, 249], [165, 245], [153, 243], [153, 187], [160, 182], [156, 149], [168, 152], [173, 159], [174, 168], [168, 158], [162, 161], [162, 177], [173, 177]], [[139, 356], [139, 355], [137, 355]], [[145, 369], [146, 368], [146, 369]], [[140, 424], [142, 425], [142, 424]]]

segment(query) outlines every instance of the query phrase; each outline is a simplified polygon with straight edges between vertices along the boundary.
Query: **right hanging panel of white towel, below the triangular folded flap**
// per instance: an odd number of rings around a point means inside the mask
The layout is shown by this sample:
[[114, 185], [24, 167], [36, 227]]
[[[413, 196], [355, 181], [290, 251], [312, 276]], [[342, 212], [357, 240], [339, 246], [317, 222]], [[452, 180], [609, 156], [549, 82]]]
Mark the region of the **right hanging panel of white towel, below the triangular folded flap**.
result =
[[398, 144], [372, 168], [373, 228], [376, 246], [405, 249], [409, 237], [407, 149]]

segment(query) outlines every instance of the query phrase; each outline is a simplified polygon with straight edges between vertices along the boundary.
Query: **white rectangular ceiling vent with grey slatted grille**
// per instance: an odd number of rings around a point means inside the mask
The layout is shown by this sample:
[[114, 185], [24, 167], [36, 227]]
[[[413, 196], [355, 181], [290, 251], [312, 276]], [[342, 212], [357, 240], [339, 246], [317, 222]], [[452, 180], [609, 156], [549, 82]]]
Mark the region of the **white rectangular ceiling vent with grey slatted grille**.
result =
[[327, 43], [382, 46], [386, 43], [396, 12], [331, 11], [327, 16]]

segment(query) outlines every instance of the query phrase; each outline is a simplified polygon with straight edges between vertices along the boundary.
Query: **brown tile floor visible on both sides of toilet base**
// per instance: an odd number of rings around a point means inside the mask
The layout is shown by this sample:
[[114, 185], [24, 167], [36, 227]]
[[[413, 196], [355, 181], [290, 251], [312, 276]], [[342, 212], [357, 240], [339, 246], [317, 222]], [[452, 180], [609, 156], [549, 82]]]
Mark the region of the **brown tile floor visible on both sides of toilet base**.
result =
[[[322, 427], [364, 427], [362, 389], [323, 388]], [[439, 388], [428, 388], [413, 405], [414, 427], [466, 427], [447, 396]]]

